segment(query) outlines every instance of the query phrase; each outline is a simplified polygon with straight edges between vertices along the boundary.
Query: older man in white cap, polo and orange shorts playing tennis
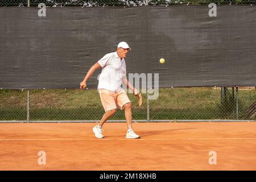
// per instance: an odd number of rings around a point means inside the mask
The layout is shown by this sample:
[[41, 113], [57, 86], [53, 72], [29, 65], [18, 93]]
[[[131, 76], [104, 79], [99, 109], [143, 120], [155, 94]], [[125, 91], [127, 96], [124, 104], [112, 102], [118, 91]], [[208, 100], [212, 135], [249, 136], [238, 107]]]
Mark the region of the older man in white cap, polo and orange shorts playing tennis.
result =
[[105, 114], [102, 116], [100, 123], [93, 127], [96, 138], [103, 138], [102, 126], [117, 111], [125, 109], [125, 118], [127, 122], [126, 138], [140, 138], [132, 129], [132, 111], [131, 101], [127, 97], [125, 90], [122, 89], [122, 82], [131, 90], [134, 96], [138, 91], [126, 79], [125, 57], [131, 50], [126, 42], [120, 42], [117, 51], [106, 54], [96, 64], [94, 64], [80, 83], [80, 89], [86, 87], [86, 82], [93, 75], [94, 71], [102, 68], [100, 78], [98, 80], [98, 92], [100, 93], [101, 103], [104, 107]]

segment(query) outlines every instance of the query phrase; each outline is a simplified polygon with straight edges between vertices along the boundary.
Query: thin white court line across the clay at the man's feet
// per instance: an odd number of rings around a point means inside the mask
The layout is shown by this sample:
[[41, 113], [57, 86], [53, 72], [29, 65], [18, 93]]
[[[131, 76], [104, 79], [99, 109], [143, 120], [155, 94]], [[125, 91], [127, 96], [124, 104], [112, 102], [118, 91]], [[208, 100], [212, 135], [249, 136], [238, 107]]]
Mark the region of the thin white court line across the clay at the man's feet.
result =
[[133, 140], [133, 141], [139, 141], [139, 140], [256, 140], [256, 138], [148, 138], [148, 139], [126, 139], [126, 138], [104, 138], [104, 139], [97, 139], [97, 138], [0, 138], [0, 140], [98, 140], [98, 141], [104, 141], [104, 140]]

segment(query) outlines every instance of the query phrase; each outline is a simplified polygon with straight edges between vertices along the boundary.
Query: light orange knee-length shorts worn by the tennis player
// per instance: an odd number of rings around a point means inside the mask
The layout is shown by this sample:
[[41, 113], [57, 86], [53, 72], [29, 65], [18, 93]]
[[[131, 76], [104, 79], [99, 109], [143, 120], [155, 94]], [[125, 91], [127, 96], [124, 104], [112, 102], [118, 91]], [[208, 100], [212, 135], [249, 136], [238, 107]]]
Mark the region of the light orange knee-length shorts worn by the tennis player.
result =
[[125, 93], [125, 90], [119, 92], [111, 92], [107, 89], [98, 89], [101, 97], [101, 104], [104, 107], [105, 112], [112, 109], [123, 109], [123, 105], [131, 102]]

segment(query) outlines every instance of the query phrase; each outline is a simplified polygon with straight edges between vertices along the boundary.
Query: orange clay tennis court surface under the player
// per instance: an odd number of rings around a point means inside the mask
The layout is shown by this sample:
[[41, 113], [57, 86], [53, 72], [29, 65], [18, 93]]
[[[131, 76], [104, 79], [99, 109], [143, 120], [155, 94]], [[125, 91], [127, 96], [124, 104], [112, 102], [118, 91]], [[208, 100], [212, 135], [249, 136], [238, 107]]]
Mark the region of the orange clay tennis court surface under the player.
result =
[[[255, 170], [256, 122], [0, 123], [0, 170]], [[38, 164], [38, 152], [46, 164]], [[217, 164], [209, 164], [216, 151]]]

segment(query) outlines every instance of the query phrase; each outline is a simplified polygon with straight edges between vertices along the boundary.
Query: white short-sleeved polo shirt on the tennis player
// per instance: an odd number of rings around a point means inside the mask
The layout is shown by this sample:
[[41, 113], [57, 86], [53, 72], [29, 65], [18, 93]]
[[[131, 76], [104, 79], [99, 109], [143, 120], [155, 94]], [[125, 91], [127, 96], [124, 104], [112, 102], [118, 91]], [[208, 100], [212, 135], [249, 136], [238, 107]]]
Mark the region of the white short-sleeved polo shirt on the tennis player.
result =
[[122, 78], [126, 76], [125, 59], [121, 60], [115, 51], [107, 53], [98, 63], [102, 67], [98, 89], [108, 89], [112, 92], [121, 90]]

